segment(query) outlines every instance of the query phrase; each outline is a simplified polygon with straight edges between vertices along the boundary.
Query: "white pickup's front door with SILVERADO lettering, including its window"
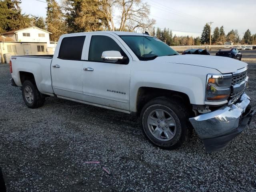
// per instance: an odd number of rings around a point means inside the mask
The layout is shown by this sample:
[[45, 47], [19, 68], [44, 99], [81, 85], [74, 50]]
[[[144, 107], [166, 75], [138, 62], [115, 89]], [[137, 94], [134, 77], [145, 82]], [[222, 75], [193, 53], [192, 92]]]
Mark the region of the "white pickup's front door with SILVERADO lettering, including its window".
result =
[[[110, 34], [89, 37], [86, 60], [83, 63], [84, 100], [111, 108], [129, 110], [130, 56], [122, 44]], [[102, 52], [116, 50], [128, 58], [127, 63], [103, 61]], [[131, 61], [131, 58], [130, 58]]]

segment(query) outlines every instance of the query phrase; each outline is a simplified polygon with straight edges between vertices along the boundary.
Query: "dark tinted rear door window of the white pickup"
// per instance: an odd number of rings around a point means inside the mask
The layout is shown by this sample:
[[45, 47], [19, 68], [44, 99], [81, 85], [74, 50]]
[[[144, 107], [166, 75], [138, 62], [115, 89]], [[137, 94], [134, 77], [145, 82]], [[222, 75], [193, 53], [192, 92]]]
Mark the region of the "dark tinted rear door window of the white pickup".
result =
[[58, 58], [81, 60], [85, 36], [65, 37], [60, 44]]

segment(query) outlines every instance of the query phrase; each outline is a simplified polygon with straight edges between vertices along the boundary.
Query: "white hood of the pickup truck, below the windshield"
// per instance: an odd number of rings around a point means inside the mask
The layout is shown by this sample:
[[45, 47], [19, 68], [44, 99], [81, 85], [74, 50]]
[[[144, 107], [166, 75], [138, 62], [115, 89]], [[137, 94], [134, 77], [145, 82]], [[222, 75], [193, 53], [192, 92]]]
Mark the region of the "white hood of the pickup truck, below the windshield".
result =
[[222, 74], [233, 73], [247, 66], [247, 63], [232, 58], [193, 54], [162, 56], [157, 57], [155, 61], [212, 68]]

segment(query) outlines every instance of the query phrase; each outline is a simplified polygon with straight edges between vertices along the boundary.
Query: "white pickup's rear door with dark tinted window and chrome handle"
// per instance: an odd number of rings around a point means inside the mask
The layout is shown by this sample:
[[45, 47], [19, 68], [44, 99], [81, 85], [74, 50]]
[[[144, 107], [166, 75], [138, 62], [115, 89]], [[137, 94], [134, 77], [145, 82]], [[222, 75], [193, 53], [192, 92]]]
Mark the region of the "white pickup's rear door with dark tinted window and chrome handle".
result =
[[[86, 36], [64, 37], [51, 64], [52, 87], [57, 96], [83, 100], [82, 55]], [[60, 44], [60, 45], [59, 45]]]

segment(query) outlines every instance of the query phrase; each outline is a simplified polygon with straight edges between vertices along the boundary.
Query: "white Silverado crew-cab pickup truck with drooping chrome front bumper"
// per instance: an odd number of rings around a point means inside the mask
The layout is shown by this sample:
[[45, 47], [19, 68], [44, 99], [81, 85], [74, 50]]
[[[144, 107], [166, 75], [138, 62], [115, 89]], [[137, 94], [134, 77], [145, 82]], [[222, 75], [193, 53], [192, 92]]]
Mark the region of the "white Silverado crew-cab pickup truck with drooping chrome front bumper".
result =
[[62, 35], [54, 55], [12, 56], [12, 85], [29, 108], [56, 96], [140, 116], [160, 148], [182, 145], [194, 128], [206, 151], [225, 148], [255, 111], [244, 93], [248, 66], [231, 58], [179, 55], [147, 34]]

